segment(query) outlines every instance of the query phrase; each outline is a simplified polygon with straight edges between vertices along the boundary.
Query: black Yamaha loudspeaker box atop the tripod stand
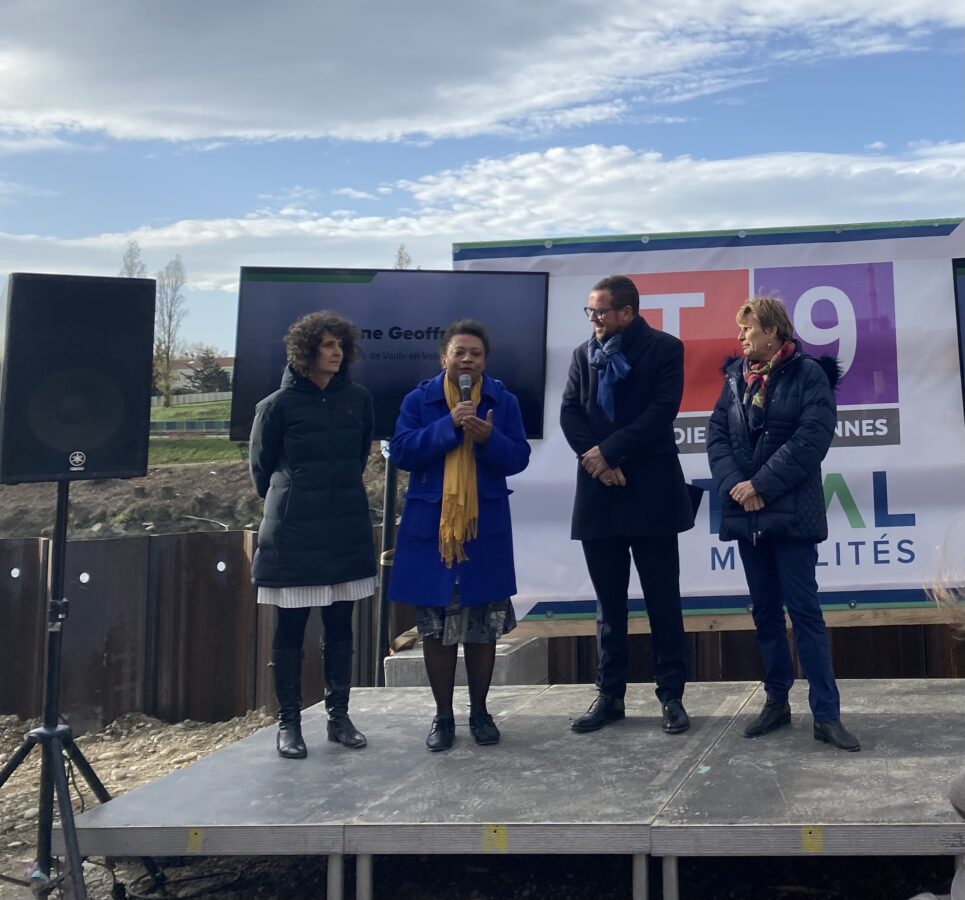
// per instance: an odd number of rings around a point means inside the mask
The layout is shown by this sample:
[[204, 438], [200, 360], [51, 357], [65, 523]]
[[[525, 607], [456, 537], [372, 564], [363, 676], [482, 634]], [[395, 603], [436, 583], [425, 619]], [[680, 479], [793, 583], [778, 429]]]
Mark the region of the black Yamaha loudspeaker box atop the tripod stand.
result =
[[32, 275], [0, 302], [0, 482], [147, 474], [154, 281]]

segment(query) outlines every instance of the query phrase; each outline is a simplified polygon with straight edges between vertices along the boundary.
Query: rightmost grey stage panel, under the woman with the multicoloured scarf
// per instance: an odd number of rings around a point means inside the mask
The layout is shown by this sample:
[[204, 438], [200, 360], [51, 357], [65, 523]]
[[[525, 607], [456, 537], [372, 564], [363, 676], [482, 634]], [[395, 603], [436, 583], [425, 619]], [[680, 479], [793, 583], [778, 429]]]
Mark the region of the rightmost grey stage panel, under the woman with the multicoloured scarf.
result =
[[[965, 764], [965, 681], [840, 681], [861, 751], [815, 741], [807, 683], [790, 728], [748, 740], [735, 721], [654, 820], [656, 856], [965, 854], [948, 788]], [[756, 713], [763, 688], [747, 705]], [[742, 717], [742, 719], [745, 717]]]

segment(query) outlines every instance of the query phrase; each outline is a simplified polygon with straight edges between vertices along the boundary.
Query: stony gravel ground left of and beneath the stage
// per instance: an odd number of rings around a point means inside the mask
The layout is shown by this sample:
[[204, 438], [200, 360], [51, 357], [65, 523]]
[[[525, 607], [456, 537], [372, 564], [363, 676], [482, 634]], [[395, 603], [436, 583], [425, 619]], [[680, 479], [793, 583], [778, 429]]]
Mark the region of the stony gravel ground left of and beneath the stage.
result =
[[[0, 763], [38, 724], [0, 716]], [[117, 796], [270, 724], [264, 710], [214, 724], [167, 724], [134, 714], [77, 738], [77, 744], [108, 791]], [[0, 788], [0, 874], [7, 878], [24, 880], [34, 859], [39, 771], [34, 750]], [[85, 802], [89, 806], [96, 801], [87, 795]], [[74, 808], [82, 809], [79, 799]], [[318, 857], [190, 857], [158, 862], [168, 879], [164, 893], [151, 890], [135, 861], [119, 861], [112, 875], [103, 860], [90, 860], [85, 863], [88, 895], [91, 900], [148, 894], [314, 900], [325, 894], [325, 861]], [[661, 881], [656, 861], [651, 868], [651, 897], [658, 898]], [[705, 858], [680, 863], [681, 892], [688, 900], [908, 900], [923, 891], [947, 896], [951, 875], [951, 861], [935, 857]], [[126, 885], [126, 893], [114, 889], [115, 880]], [[386, 856], [375, 859], [374, 881], [376, 898], [392, 900], [616, 900], [630, 896], [631, 872], [625, 856]], [[346, 896], [352, 897], [351, 859], [346, 861], [345, 884]], [[2, 900], [32, 896], [28, 887], [0, 880]]]

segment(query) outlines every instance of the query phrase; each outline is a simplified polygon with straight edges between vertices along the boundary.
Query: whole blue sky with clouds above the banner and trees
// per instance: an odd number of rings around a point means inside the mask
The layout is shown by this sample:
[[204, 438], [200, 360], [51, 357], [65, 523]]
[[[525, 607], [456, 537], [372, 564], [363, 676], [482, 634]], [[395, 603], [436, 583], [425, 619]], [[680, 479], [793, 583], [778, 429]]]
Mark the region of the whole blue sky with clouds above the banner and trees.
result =
[[0, 277], [965, 215], [947, 0], [4, 0]]

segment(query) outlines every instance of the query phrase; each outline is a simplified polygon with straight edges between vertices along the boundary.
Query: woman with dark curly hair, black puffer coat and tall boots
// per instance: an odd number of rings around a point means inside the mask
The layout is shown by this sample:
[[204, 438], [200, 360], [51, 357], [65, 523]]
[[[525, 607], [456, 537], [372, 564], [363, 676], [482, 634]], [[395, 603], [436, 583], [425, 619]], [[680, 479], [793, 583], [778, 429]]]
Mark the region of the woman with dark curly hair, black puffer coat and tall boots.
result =
[[265, 500], [252, 581], [275, 606], [271, 665], [278, 697], [278, 752], [307, 754], [301, 732], [302, 644], [320, 607], [328, 739], [365, 746], [348, 717], [352, 607], [375, 589], [375, 548], [362, 471], [372, 442], [372, 396], [348, 367], [358, 329], [324, 310], [285, 335], [281, 387], [255, 409], [251, 478]]

